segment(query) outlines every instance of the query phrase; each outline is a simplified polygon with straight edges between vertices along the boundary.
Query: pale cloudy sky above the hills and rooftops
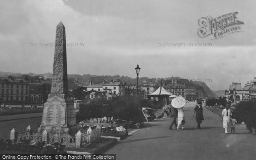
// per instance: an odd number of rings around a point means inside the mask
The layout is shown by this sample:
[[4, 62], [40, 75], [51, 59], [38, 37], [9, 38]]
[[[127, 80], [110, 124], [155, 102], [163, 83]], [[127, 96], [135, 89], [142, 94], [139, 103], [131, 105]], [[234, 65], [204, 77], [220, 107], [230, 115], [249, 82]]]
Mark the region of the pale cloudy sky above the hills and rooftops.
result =
[[[230, 12], [239, 13], [243, 32], [198, 36], [201, 17]], [[55, 42], [62, 21], [73, 45], [67, 47], [68, 74], [135, 78], [138, 63], [140, 77], [210, 79], [212, 90], [224, 90], [256, 77], [255, 19], [256, 0], [1, 0], [0, 71], [52, 72], [54, 47], [39, 45]]]

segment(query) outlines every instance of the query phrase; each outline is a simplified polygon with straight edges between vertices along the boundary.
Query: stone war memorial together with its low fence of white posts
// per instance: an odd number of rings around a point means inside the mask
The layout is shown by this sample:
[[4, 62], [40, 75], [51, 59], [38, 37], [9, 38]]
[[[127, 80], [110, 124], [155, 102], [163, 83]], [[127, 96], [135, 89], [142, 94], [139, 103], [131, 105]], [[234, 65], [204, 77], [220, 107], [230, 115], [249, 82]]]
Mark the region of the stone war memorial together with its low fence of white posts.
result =
[[[91, 129], [79, 130], [76, 125], [76, 113], [73, 100], [68, 96], [67, 88], [67, 51], [65, 27], [60, 22], [56, 29], [55, 52], [53, 62], [52, 89], [44, 104], [41, 125], [32, 130], [30, 125], [23, 132], [12, 129], [10, 139], [15, 141], [30, 140], [31, 143], [46, 142], [46, 144], [62, 143], [71, 153], [93, 141], [100, 140], [99, 125]], [[79, 153], [87, 153], [79, 150]]]

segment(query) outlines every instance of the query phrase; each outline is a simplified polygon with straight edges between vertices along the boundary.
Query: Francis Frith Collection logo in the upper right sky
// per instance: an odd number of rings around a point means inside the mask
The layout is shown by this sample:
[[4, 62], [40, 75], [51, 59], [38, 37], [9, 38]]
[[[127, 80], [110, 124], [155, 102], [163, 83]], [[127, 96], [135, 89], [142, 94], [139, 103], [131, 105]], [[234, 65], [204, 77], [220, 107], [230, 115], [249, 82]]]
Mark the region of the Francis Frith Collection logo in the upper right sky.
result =
[[212, 35], [213, 39], [218, 39], [230, 33], [242, 32], [241, 24], [244, 24], [244, 22], [238, 20], [236, 15], [238, 15], [238, 12], [228, 13], [216, 18], [211, 16], [201, 17], [198, 20], [198, 24], [201, 26], [198, 29], [198, 36], [204, 38]]

